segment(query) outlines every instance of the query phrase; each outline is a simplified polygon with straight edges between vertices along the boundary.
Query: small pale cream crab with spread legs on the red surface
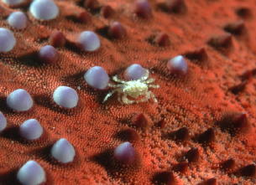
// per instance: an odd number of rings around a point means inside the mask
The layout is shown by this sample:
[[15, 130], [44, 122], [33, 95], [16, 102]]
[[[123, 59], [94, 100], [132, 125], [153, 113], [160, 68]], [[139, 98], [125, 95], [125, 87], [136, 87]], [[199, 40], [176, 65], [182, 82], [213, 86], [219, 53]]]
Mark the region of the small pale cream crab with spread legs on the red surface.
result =
[[[149, 70], [147, 69], [145, 72], [145, 75], [141, 77], [138, 80], [130, 80], [130, 81], [124, 81], [119, 80], [118, 75], [114, 75], [112, 77], [112, 80], [119, 83], [118, 85], [112, 85], [108, 84], [109, 87], [116, 88], [112, 90], [110, 93], [108, 93], [103, 103], [112, 96], [115, 92], [118, 92], [118, 101], [123, 104], [133, 104], [133, 103], [139, 103], [139, 102], [145, 102], [152, 98], [154, 102], [157, 102], [154, 93], [149, 90], [149, 88], [159, 88], [159, 85], [150, 85], [154, 82], [154, 79], [149, 79]], [[144, 97], [138, 99], [138, 96], [143, 95]], [[129, 100], [128, 96], [135, 99], [135, 100]]]

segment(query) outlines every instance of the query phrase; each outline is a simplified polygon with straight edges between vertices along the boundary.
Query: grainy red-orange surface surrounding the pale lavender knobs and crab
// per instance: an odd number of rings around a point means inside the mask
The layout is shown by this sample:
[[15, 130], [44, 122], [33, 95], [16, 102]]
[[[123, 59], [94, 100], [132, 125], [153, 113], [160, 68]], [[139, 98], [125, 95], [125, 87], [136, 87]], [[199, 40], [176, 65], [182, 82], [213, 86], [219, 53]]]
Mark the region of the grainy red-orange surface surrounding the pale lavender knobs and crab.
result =
[[[78, 1], [55, 2], [60, 16], [50, 22], [34, 20], [28, 7], [20, 8], [28, 13], [29, 26], [13, 30], [17, 45], [0, 54], [0, 110], [8, 119], [0, 136], [0, 184], [18, 183], [16, 172], [30, 159], [44, 167], [45, 184], [256, 183], [254, 0], [187, 0], [174, 12], [163, 8], [165, 1], [149, 1], [153, 13], [148, 19], [133, 13], [133, 0], [99, 0], [99, 8], [91, 11]], [[106, 5], [113, 11], [104, 18], [101, 7]], [[9, 28], [5, 19], [16, 9], [1, 2], [0, 27]], [[91, 18], [80, 23], [76, 14], [85, 10]], [[125, 38], [107, 37], [112, 21], [123, 24]], [[34, 52], [50, 44], [56, 29], [70, 41], [81, 31], [96, 31], [102, 46], [85, 53], [65, 44], [58, 49], [55, 64], [42, 64]], [[159, 33], [169, 36], [165, 47], [152, 42]], [[166, 69], [167, 60], [178, 54], [187, 57], [185, 76], [170, 75]], [[112, 96], [102, 105], [108, 91], [92, 90], [83, 80], [94, 65], [112, 76], [134, 63], [149, 69], [160, 85], [152, 90], [158, 103], [121, 105]], [[75, 109], [54, 104], [51, 96], [59, 85], [77, 90], [80, 100]], [[33, 95], [32, 110], [17, 113], [6, 106], [7, 95], [18, 88]], [[134, 116], [141, 113], [146, 119], [143, 127], [134, 124]], [[239, 120], [236, 113], [246, 117]], [[44, 126], [39, 141], [22, 141], [17, 134], [17, 127], [29, 118]], [[76, 148], [75, 161], [68, 165], [50, 157], [50, 146], [62, 137]], [[114, 161], [112, 151], [128, 140], [138, 159], [132, 167], [123, 167]]]

